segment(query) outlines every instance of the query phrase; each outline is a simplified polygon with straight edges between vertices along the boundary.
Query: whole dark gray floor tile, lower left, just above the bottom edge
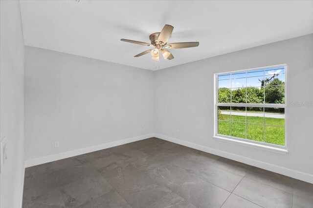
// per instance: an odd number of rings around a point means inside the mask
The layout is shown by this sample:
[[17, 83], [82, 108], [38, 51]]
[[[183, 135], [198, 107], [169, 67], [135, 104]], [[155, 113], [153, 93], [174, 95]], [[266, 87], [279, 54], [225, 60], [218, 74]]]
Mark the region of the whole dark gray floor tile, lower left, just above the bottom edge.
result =
[[98, 174], [77, 180], [60, 187], [60, 189], [65, 205], [76, 207], [111, 191], [113, 188]]

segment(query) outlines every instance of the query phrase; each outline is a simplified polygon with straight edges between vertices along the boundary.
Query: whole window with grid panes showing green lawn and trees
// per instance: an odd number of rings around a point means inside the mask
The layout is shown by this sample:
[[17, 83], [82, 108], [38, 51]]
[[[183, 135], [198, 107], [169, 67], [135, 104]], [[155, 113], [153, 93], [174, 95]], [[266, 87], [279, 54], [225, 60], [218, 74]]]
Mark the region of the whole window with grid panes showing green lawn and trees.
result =
[[286, 149], [286, 65], [215, 75], [215, 137]]

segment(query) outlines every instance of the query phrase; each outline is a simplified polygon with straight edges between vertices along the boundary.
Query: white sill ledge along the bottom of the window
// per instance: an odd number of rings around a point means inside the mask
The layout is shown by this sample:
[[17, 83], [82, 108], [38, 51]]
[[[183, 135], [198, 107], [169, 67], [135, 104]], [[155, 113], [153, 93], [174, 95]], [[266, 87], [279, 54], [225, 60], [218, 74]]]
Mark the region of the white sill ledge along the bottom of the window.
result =
[[242, 146], [246, 146], [246, 147], [252, 147], [252, 148], [256, 148], [256, 149], [260, 149], [260, 150], [271, 151], [271, 152], [280, 153], [280, 154], [287, 154], [288, 153], [288, 150], [284, 149], [284, 148], [271, 147], [271, 146], [267, 146], [267, 145], [263, 145], [263, 144], [256, 144], [256, 143], [252, 143], [252, 142], [247, 142], [247, 141], [243, 141], [243, 140], [239, 140], [239, 139], [226, 138], [226, 137], [217, 136], [217, 135], [213, 136], [213, 138], [215, 140], [228, 142], [228, 143], [232, 143], [232, 144], [238, 144], [238, 145], [242, 145]]

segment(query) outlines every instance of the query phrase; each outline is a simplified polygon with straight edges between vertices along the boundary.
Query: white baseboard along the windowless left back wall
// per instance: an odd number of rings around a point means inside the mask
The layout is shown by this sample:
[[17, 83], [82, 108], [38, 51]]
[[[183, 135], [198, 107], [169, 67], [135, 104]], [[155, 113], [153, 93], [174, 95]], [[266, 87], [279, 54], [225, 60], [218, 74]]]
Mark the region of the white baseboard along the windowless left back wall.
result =
[[150, 133], [150, 134], [136, 136], [136, 137], [132, 137], [132, 138], [128, 138], [128, 139], [123, 139], [123, 140], [109, 142], [109, 143], [105, 143], [105, 144], [101, 144], [101, 145], [96, 145], [96, 146], [92, 146], [92, 147], [87, 147], [87, 148], [83, 148], [83, 149], [67, 151], [67, 152], [62, 152], [62, 153], [58, 153], [58, 154], [52, 154], [52, 155], [48, 155], [45, 157], [31, 159], [31, 160], [25, 160], [25, 168], [28, 168], [31, 166], [36, 166], [36, 165], [41, 165], [41, 164], [48, 163], [48, 162], [53, 162], [56, 160], [65, 159], [68, 157], [77, 156], [80, 154], [86, 154], [86, 153], [89, 153], [92, 151], [103, 150], [103, 149], [131, 143], [131, 142], [139, 141], [142, 139], [147, 139], [147, 138], [150, 138], [153, 136], [154, 136], [154, 133]]

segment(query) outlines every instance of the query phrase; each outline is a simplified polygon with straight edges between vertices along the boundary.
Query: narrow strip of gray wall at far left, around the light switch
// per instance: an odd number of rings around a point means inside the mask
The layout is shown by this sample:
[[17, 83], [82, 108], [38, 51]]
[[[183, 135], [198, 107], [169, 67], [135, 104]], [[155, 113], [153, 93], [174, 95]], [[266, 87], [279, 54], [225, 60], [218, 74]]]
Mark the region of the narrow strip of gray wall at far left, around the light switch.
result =
[[24, 173], [24, 41], [20, 1], [0, 0], [0, 139], [7, 160], [0, 175], [0, 207], [21, 207]]

